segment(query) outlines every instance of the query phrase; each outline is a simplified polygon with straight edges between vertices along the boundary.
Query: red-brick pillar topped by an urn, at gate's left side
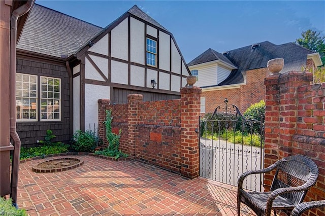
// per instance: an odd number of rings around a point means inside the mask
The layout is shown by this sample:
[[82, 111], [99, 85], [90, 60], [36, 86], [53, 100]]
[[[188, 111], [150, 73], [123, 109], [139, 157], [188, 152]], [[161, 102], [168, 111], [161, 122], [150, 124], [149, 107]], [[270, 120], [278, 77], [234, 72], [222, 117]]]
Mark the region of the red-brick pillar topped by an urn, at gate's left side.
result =
[[201, 88], [181, 88], [181, 174], [189, 178], [199, 176], [199, 116]]

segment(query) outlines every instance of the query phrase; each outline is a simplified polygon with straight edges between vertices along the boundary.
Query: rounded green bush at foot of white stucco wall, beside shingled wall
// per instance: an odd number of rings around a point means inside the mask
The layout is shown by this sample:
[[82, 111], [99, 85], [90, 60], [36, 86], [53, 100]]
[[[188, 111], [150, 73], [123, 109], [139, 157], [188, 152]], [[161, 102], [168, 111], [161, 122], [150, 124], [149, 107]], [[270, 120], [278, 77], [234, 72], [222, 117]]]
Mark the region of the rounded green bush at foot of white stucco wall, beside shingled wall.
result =
[[85, 132], [77, 130], [73, 134], [72, 149], [77, 152], [93, 152], [98, 145], [99, 138], [92, 130]]

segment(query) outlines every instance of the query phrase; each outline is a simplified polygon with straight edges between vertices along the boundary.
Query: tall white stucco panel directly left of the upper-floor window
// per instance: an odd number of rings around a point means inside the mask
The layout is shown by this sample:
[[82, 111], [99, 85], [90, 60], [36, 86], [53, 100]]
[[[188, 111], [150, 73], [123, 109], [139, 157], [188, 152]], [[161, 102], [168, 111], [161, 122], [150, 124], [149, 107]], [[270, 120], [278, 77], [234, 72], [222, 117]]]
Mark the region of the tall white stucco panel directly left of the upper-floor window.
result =
[[131, 61], [144, 64], [144, 23], [131, 17]]

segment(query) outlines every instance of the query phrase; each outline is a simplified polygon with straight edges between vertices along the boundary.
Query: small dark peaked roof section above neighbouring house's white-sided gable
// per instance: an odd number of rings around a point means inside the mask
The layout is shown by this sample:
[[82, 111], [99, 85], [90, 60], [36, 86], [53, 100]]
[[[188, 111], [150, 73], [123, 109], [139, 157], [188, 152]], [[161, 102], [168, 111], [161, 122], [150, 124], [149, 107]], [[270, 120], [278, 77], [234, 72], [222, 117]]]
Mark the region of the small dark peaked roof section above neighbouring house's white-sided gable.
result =
[[215, 51], [211, 48], [209, 48], [207, 51], [205, 51], [198, 57], [191, 60], [187, 65], [192, 66], [192, 65], [202, 64], [202, 63], [206, 63], [209, 61], [215, 61], [215, 60], [222, 60], [222, 61], [224, 61], [230, 65], [233, 65], [235, 67], [235, 65], [228, 58], [226, 58], [224, 55], [222, 55], [221, 53], [218, 53], [217, 51]]

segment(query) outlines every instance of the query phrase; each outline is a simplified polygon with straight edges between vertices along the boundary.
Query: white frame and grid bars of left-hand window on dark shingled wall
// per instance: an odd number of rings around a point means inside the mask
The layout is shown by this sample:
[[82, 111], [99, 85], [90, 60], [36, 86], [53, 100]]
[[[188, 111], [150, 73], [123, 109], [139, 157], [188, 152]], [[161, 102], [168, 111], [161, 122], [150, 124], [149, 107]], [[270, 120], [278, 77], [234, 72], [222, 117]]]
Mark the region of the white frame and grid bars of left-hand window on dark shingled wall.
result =
[[[18, 76], [21, 76], [21, 81], [17, 81], [17, 77]], [[23, 81], [23, 77], [24, 76], [28, 76], [28, 82], [24, 82]], [[35, 83], [30, 83], [30, 78], [31, 77], [34, 77], [35, 78], [35, 80], [36, 80]], [[20, 83], [20, 85], [17, 85], [19, 83]], [[23, 88], [24, 84], [25, 85], [28, 84], [28, 89], [24, 89]], [[36, 90], [30, 90], [30, 85], [31, 84], [35, 84], [36, 85]], [[19, 89], [17, 89], [18, 86], [20, 86]], [[19, 93], [19, 91], [20, 91], [20, 93]], [[28, 96], [26, 96], [26, 95], [24, 96], [23, 91], [28, 91]], [[31, 97], [30, 96], [30, 91], [36, 91], [36, 96], [35, 97]], [[17, 96], [17, 95], [19, 95], [19, 96]], [[20, 98], [20, 99], [17, 99], [17, 98]], [[21, 118], [18, 118], [18, 116], [17, 116], [18, 114], [20, 114], [20, 117], [23, 115], [23, 111], [22, 111], [22, 108], [23, 108], [23, 105], [24, 105], [23, 104], [23, 98], [28, 99], [28, 101], [30, 101], [30, 99], [35, 99], [35, 115], [36, 115], [35, 116], [35, 119], [21, 119]], [[20, 101], [20, 104], [21, 104], [20, 105], [21, 106], [20, 107], [20, 110], [21, 111], [18, 111], [17, 112], [17, 103], [18, 103], [18, 101]], [[26, 105], [28, 105], [28, 107], [29, 107], [28, 108], [29, 109], [28, 113], [30, 113], [31, 107], [33, 105], [30, 102], [28, 102], [28, 104], [26, 104]], [[17, 122], [37, 122], [38, 121], [38, 77], [37, 77], [37, 75], [16, 73], [16, 120], [17, 120]]]

